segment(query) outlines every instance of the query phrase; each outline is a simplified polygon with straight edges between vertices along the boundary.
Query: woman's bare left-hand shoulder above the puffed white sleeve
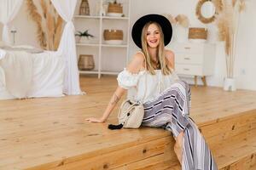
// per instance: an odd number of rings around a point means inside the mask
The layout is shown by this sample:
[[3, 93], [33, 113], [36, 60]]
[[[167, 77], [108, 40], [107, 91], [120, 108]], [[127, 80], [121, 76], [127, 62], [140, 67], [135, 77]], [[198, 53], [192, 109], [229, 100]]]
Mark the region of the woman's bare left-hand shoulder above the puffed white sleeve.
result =
[[131, 62], [127, 65], [128, 71], [136, 73], [143, 68], [144, 55], [142, 53], [134, 54]]

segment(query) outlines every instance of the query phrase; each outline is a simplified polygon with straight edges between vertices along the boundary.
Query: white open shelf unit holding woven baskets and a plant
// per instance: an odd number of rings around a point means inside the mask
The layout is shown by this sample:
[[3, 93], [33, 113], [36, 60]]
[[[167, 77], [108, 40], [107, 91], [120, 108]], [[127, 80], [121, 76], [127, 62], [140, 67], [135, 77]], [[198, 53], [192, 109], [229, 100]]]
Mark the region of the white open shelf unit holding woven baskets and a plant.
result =
[[[89, 0], [90, 15], [79, 15], [79, 6], [81, 0], [78, 1], [76, 14], [74, 15], [74, 25], [76, 31], [89, 30], [94, 35], [92, 41], [77, 42], [77, 54], [93, 54], [95, 60], [95, 69], [93, 71], [79, 71], [80, 74], [97, 74], [98, 78], [102, 74], [117, 75], [122, 71], [128, 62], [128, 47], [130, 41], [130, 8], [131, 0], [118, 0], [123, 5], [124, 17], [103, 16], [97, 14], [94, 7], [99, 4], [103, 6], [105, 0]], [[92, 10], [91, 10], [92, 9]], [[103, 10], [100, 9], [100, 10]], [[124, 39], [122, 44], [108, 44], [103, 39], [103, 31], [105, 29], [123, 30]]]

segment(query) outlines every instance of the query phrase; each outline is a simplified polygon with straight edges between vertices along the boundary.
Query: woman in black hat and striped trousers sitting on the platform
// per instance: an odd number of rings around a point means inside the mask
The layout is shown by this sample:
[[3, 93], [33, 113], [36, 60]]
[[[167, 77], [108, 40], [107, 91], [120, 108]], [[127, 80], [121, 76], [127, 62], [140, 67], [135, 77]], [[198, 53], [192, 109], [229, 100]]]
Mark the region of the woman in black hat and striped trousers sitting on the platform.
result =
[[145, 15], [134, 24], [132, 38], [142, 51], [119, 73], [119, 87], [102, 117], [86, 120], [105, 122], [128, 90], [129, 98], [143, 102], [143, 126], [172, 131], [176, 140], [174, 151], [183, 170], [217, 169], [205, 140], [189, 118], [189, 85], [179, 81], [174, 71], [174, 54], [165, 49], [172, 39], [171, 23], [158, 14]]

